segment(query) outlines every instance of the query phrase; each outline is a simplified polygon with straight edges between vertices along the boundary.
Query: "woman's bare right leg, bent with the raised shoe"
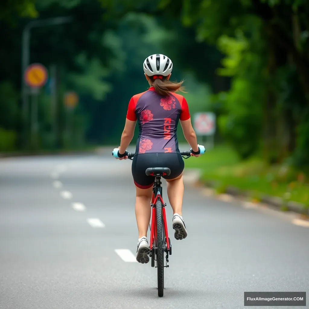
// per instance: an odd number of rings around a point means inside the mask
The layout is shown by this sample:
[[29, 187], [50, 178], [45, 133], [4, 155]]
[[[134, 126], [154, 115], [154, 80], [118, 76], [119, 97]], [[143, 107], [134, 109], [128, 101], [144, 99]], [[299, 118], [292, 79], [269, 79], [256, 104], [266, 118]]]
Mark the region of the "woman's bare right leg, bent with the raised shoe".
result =
[[174, 179], [166, 179], [167, 197], [173, 209], [173, 214], [181, 214], [182, 199], [184, 197], [184, 180], [182, 174]]

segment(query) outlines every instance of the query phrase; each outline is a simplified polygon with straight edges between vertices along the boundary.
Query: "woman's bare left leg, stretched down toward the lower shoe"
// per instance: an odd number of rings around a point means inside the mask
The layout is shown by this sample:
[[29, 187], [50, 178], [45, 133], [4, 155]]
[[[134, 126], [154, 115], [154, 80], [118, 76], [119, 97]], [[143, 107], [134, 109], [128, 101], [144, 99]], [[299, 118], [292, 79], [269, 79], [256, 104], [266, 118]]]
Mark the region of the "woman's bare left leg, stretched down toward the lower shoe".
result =
[[[135, 186], [136, 187], [136, 186]], [[148, 189], [136, 187], [135, 216], [138, 228], [138, 238], [147, 237], [150, 222], [152, 186]]]

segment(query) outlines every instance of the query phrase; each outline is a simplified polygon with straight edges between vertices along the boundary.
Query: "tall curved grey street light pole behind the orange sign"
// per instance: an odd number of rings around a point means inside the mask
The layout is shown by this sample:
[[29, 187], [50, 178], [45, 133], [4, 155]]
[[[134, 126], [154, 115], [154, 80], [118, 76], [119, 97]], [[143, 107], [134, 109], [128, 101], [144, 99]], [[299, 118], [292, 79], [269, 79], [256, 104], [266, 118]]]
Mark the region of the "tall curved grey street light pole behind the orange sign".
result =
[[59, 25], [72, 21], [72, 17], [55, 17], [41, 20], [33, 20], [28, 23], [23, 29], [22, 34], [22, 59], [21, 59], [21, 89], [22, 89], [22, 109], [24, 117], [24, 138], [26, 141], [27, 124], [28, 124], [28, 100], [27, 100], [27, 86], [24, 82], [23, 74], [29, 66], [30, 60], [30, 30], [34, 27], [44, 27], [51, 25]]

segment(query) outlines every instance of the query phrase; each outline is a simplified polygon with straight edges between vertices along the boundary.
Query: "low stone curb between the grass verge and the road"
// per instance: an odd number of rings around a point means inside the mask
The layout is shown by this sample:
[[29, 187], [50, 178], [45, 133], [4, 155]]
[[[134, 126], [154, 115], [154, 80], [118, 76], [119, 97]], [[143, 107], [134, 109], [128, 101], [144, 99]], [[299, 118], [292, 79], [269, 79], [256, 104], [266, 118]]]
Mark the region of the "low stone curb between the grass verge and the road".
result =
[[[199, 175], [201, 175], [201, 171]], [[231, 201], [232, 198], [236, 198], [241, 201], [246, 199], [248, 201], [248, 198], [250, 197], [249, 191], [242, 191], [239, 188], [236, 188], [233, 186], [227, 186], [224, 190], [222, 190], [223, 191], [222, 194], [217, 194], [215, 193], [214, 183], [209, 180], [202, 181], [200, 176], [196, 180], [196, 184], [209, 189], [209, 193], [208, 193], [209, 196], [217, 195], [220, 197], [220, 199], [223, 198], [223, 200], [226, 200], [226, 201]], [[252, 203], [252, 202], [248, 201], [248, 203]], [[260, 203], [267, 205], [269, 207], [272, 207], [279, 211], [283, 211], [283, 212], [292, 211], [294, 213], [309, 216], [309, 208], [307, 208], [304, 204], [294, 202], [294, 201], [285, 201], [281, 197], [274, 197], [274, 196], [269, 196], [265, 194], [261, 196]], [[259, 203], [252, 203], [252, 204], [258, 205]]]

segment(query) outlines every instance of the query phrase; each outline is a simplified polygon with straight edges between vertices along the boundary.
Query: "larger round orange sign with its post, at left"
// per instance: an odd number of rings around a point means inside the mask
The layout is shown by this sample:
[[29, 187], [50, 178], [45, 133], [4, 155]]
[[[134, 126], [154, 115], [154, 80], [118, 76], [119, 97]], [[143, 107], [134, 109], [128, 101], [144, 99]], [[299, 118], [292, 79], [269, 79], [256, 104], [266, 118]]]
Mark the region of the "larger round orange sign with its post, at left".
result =
[[47, 81], [47, 70], [40, 63], [34, 63], [28, 66], [24, 72], [24, 81], [31, 88], [32, 106], [31, 106], [31, 140], [32, 145], [36, 145], [38, 132], [38, 95], [39, 90]]

